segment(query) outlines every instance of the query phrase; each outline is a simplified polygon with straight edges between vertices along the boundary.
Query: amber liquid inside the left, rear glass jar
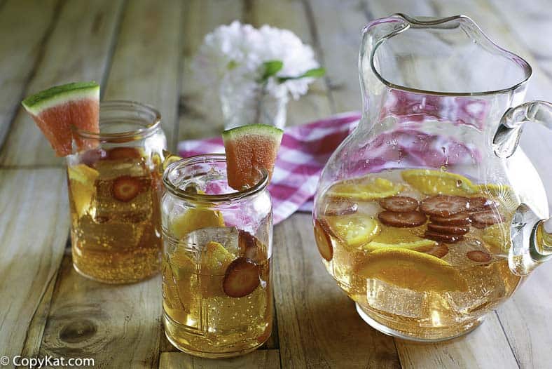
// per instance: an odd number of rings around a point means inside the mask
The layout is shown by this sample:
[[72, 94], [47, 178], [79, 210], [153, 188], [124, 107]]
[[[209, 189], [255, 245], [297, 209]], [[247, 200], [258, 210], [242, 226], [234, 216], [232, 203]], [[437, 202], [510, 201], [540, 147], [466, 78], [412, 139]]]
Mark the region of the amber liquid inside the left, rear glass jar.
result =
[[[131, 283], [156, 274], [163, 247], [158, 168], [144, 158], [101, 160], [92, 167], [97, 177], [88, 178], [90, 182], [68, 172], [74, 267], [106, 283]], [[114, 182], [123, 175], [139, 184], [139, 193], [129, 201], [113, 197]]]

